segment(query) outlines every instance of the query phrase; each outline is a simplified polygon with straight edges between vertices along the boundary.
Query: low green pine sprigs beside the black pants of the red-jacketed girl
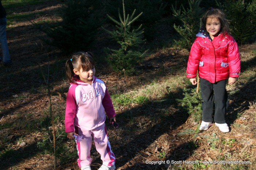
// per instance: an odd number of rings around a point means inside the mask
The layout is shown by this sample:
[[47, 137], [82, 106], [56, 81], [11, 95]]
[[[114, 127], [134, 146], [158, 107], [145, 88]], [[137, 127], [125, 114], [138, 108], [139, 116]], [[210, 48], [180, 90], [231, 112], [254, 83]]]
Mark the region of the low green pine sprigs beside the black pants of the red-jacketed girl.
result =
[[195, 89], [184, 89], [184, 98], [176, 99], [181, 103], [182, 109], [191, 114], [195, 122], [202, 120], [202, 98], [201, 93], [196, 93]]

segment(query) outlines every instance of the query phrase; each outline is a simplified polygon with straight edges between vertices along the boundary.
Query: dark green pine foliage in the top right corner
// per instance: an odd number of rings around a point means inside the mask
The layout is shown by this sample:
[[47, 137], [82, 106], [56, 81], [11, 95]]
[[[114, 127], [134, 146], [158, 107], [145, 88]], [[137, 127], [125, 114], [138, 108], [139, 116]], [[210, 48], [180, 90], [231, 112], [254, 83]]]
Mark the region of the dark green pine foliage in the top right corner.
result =
[[256, 0], [242, 3], [241, 0], [226, 0], [218, 3], [229, 19], [230, 33], [239, 44], [255, 41], [256, 35]]

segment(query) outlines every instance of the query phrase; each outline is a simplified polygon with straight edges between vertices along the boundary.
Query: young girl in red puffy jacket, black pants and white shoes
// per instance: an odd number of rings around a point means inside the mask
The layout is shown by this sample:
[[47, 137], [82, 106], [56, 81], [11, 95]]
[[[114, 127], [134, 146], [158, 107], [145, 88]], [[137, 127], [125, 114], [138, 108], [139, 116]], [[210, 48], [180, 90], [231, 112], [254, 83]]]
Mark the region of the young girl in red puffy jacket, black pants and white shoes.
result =
[[187, 66], [187, 77], [193, 85], [197, 84], [197, 70], [200, 77], [203, 121], [199, 130], [207, 130], [214, 121], [220, 131], [229, 132], [225, 120], [228, 106], [226, 81], [228, 84], [236, 82], [240, 64], [238, 45], [229, 34], [225, 14], [210, 8], [202, 18], [202, 27], [191, 47]]

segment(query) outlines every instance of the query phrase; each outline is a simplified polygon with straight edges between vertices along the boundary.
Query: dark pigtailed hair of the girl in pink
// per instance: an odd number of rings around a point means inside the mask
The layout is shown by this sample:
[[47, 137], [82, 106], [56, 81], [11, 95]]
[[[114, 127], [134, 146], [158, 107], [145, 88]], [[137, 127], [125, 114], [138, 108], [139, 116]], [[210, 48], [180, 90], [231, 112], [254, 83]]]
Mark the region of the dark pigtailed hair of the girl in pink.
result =
[[74, 69], [83, 71], [95, 66], [93, 59], [94, 55], [91, 52], [78, 52], [72, 55], [71, 59], [66, 61], [65, 71], [69, 82], [74, 83]]

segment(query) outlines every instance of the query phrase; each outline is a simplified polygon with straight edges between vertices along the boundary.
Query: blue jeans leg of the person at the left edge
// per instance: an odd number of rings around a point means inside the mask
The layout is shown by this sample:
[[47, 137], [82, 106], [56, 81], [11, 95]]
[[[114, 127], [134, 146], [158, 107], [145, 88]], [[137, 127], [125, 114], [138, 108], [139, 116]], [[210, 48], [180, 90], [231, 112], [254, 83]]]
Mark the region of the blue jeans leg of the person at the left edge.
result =
[[6, 39], [6, 24], [7, 24], [7, 19], [0, 18], [0, 43], [1, 43], [1, 48], [3, 52], [2, 61], [4, 63], [11, 63], [12, 61], [9, 54], [9, 49], [8, 49], [7, 39]]

